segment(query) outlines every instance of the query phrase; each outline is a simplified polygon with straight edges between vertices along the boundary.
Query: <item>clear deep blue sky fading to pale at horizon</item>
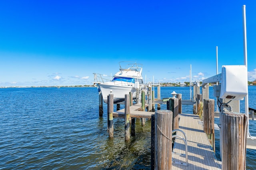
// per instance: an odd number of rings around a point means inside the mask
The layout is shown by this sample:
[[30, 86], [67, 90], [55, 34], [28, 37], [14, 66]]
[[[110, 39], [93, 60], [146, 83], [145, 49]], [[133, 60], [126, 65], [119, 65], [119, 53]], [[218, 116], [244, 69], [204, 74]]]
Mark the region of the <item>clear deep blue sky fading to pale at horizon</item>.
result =
[[155, 82], [189, 82], [244, 64], [256, 79], [256, 1], [7, 0], [0, 2], [0, 86], [92, 84], [120, 61]]

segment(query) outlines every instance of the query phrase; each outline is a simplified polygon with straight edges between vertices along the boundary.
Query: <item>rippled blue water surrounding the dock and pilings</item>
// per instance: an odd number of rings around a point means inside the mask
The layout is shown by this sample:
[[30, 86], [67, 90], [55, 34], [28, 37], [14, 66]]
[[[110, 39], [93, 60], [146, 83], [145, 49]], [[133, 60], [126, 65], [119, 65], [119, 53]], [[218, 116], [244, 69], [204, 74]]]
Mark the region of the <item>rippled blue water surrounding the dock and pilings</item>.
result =
[[[249, 107], [256, 108], [256, 86], [248, 88]], [[172, 91], [190, 98], [187, 87], [163, 87], [161, 98]], [[183, 113], [192, 109], [182, 106]], [[142, 127], [137, 119], [136, 136], [125, 142], [124, 120], [114, 119], [110, 140], [106, 110], [104, 104], [98, 116], [97, 88], [0, 89], [0, 169], [150, 169], [150, 121]], [[255, 126], [250, 121], [252, 136]], [[247, 169], [256, 169], [255, 154], [247, 149]]]

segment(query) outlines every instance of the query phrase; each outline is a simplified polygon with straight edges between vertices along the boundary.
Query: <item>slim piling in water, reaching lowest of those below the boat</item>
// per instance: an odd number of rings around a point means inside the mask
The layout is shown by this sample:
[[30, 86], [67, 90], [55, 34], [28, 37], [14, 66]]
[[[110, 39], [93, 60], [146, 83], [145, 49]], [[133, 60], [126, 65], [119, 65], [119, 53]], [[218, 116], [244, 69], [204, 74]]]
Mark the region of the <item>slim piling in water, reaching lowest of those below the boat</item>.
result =
[[126, 94], [124, 98], [124, 133], [125, 140], [130, 139], [130, 95]]

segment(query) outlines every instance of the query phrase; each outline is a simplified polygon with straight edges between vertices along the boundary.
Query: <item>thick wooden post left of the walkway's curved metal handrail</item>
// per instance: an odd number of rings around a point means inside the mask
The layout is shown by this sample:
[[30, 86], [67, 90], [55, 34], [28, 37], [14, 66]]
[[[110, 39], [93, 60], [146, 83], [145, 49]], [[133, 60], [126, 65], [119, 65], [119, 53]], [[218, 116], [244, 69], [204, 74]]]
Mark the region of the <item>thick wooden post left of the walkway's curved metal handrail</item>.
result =
[[157, 170], [172, 169], [172, 111], [155, 112], [155, 165]]

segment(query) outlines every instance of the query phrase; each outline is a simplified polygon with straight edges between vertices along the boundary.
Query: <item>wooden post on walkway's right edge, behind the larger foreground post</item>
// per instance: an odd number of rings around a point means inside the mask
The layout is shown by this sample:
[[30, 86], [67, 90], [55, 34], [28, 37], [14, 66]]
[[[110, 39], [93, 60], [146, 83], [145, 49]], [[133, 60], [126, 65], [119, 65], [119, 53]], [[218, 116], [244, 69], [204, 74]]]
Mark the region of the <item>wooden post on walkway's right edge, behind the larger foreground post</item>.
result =
[[212, 145], [212, 149], [215, 152], [215, 137], [214, 137], [214, 103], [213, 99], [204, 99], [204, 132], [208, 136], [208, 139]]

